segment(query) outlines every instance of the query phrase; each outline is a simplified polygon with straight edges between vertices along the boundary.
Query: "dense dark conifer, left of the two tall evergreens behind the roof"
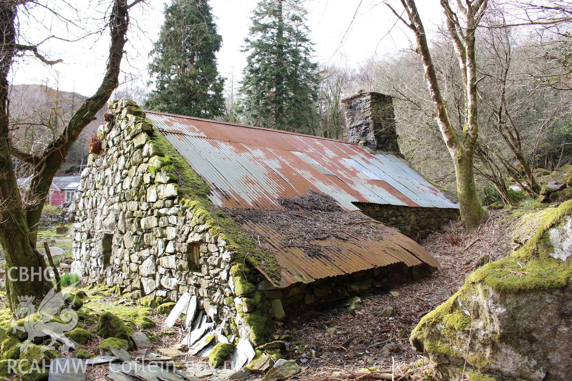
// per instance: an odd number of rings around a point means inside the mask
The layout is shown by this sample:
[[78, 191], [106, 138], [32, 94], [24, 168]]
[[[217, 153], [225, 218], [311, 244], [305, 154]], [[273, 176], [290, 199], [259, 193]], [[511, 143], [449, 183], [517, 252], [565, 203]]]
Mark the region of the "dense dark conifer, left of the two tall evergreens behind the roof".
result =
[[165, 23], [150, 55], [149, 74], [156, 89], [149, 110], [217, 118], [224, 111], [224, 78], [216, 53], [223, 39], [208, 0], [174, 0], [165, 8]]

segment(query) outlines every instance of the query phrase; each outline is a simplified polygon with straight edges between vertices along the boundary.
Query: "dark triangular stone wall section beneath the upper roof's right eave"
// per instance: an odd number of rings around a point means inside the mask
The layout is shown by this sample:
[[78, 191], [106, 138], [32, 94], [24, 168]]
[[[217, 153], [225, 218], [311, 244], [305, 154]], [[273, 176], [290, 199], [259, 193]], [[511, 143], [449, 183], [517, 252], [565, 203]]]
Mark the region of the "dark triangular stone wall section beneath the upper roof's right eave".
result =
[[371, 218], [396, 228], [419, 242], [440, 226], [459, 216], [458, 209], [355, 203]]

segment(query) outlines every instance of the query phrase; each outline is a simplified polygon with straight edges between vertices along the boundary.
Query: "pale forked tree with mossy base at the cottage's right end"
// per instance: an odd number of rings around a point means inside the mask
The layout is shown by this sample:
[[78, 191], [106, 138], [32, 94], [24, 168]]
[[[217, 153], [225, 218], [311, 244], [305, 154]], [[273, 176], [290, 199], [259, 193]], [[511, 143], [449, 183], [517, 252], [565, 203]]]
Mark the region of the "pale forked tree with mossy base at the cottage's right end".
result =
[[[459, 6], [456, 12], [451, 9], [448, 0], [440, 2], [446, 17], [447, 34], [455, 47], [460, 77], [463, 81], [465, 121], [463, 126], [458, 126], [458, 130], [461, 130], [459, 133], [453, 127], [447, 113], [447, 104], [440, 91], [436, 69], [415, 0], [401, 0], [401, 3], [407, 20], [390, 5], [387, 6], [415, 34], [417, 53], [423, 63], [427, 89], [435, 107], [435, 121], [455, 165], [461, 219], [466, 228], [472, 228], [478, 226], [486, 216], [476, 194], [473, 157], [478, 135], [475, 31], [486, 11], [487, 1], [475, 0], [467, 7]], [[457, 17], [458, 13], [462, 13], [463, 17]]]

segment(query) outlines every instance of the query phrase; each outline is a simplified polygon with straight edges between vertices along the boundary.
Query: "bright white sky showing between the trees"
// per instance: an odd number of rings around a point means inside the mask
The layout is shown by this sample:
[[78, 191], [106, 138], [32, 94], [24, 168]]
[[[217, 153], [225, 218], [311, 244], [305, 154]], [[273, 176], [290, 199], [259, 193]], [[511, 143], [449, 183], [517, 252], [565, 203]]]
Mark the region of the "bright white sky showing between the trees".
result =
[[[89, 30], [101, 26], [101, 20], [97, 18], [101, 18], [106, 9], [100, 7], [98, 12], [85, 13], [93, 18], [89, 19], [82, 12], [92, 9], [89, 3], [96, 0], [82, 1], [85, 1], [85, 8], [75, 17]], [[406, 28], [401, 22], [396, 23], [395, 15], [382, 1], [305, 0], [304, 5], [308, 9], [307, 25], [311, 30], [309, 37], [315, 43], [315, 61], [358, 67], [360, 63], [375, 57], [375, 54], [393, 54], [410, 47], [410, 35]], [[134, 86], [146, 87], [149, 80], [148, 53], [163, 22], [164, 3], [163, 0], [146, 0], [130, 14], [127, 54], [121, 67], [124, 72], [122, 77], [133, 78]], [[224, 77], [230, 78], [233, 71], [237, 81], [241, 77], [247, 54], [240, 50], [248, 34], [251, 24], [249, 17], [256, 3], [256, 0], [210, 0], [219, 34], [223, 37], [223, 47], [217, 58], [219, 72]], [[392, 3], [399, 9], [398, 1], [393, 0]], [[439, 0], [420, 0], [417, 5], [419, 13], [424, 17], [426, 30], [436, 30], [436, 25], [442, 20]], [[22, 22], [23, 34], [30, 42], [42, 41], [49, 35], [50, 27], [53, 30], [51, 33], [68, 39], [77, 35], [79, 29], [74, 29], [70, 23], [62, 23], [53, 14], [42, 10], [36, 12], [41, 26], [38, 26], [37, 21]], [[354, 14], [356, 18], [350, 27]], [[108, 30], [97, 39], [88, 37], [75, 43], [48, 41], [41, 46], [40, 51], [50, 59], [61, 58], [63, 62], [48, 68], [33, 58], [21, 60], [14, 66], [12, 83], [47, 83], [51, 87], [58, 86], [63, 91], [92, 95], [105, 69], [108, 46]], [[227, 80], [229, 82], [230, 79]]]

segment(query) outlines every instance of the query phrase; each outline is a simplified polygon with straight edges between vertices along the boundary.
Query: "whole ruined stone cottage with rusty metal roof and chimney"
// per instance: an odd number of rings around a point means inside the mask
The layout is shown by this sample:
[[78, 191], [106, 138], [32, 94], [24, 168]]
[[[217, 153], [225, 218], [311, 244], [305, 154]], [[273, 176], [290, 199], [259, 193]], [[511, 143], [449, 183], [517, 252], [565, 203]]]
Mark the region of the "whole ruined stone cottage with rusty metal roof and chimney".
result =
[[458, 204], [400, 156], [391, 97], [344, 108], [349, 142], [112, 103], [70, 208], [72, 272], [134, 299], [188, 292], [260, 344], [284, 307], [438, 266], [415, 240]]

